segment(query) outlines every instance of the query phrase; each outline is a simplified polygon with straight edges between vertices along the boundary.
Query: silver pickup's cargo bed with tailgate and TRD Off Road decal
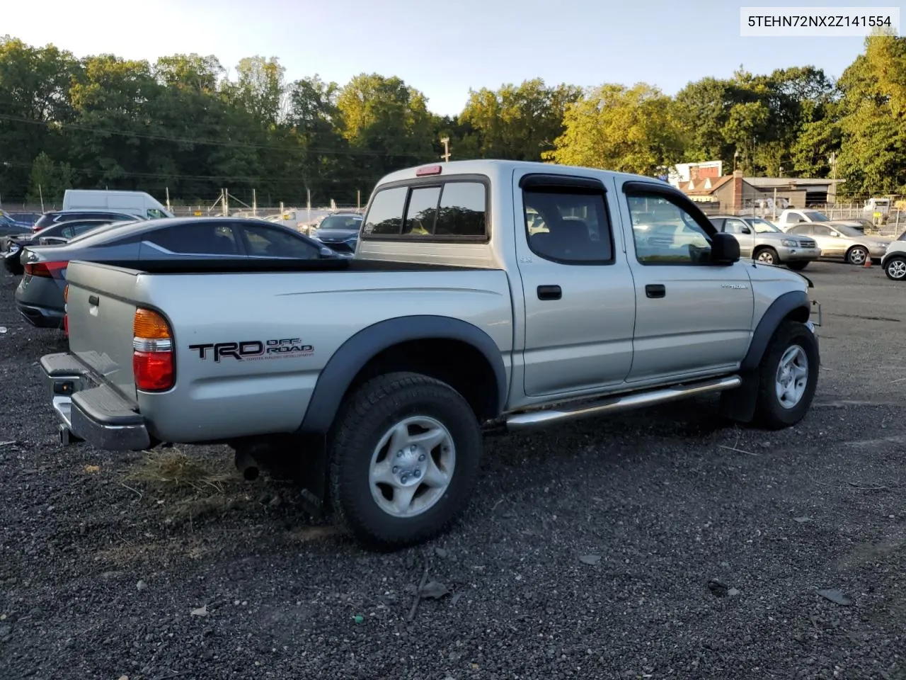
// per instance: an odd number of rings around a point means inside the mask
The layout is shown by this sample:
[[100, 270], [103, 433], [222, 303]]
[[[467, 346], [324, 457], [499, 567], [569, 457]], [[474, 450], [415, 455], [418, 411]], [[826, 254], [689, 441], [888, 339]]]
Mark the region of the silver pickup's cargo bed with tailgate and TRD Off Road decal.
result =
[[[318, 276], [300, 276], [313, 274]], [[507, 364], [514, 343], [510, 283], [501, 269], [385, 260], [174, 258], [73, 261], [66, 276], [70, 352], [97, 381], [133, 404], [151, 434], [164, 441], [293, 432], [328, 361], [348, 340], [382, 322], [411, 316], [461, 320], [483, 329]], [[166, 393], [141, 392], [134, 383], [133, 319], [139, 307], [161, 311], [172, 329], [176, 383]], [[388, 339], [396, 342], [404, 329], [394, 329]], [[304, 351], [263, 360], [221, 359], [198, 349], [234, 344], [289, 344]]]

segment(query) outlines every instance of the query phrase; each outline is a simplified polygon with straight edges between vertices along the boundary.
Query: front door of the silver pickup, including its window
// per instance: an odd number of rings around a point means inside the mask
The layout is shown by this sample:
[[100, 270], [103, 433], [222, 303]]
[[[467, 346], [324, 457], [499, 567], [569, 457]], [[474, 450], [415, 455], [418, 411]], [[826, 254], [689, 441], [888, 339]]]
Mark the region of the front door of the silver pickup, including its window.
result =
[[[630, 383], [736, 370], [752, 336], [754, 295], [745, 262], [709, 261], [710, 234], [670, 187], [622, 185], [620, 209], [636, 287]], [[700, 218], [699, 218], [700, 219]], [[673, 226], [651, 238], [652, 226]], [[672, 233], [672, 240], [664, 234]]]

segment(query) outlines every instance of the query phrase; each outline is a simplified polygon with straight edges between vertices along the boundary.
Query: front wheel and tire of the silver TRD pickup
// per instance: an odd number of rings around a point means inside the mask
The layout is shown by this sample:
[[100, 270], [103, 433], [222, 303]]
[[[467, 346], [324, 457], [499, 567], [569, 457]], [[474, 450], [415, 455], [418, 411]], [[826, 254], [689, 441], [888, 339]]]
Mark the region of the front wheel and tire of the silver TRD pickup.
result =
[[[805, 375], [793, 378], [792, 392], [786, 392], [781, 399], [777, 394], [781, 388], [781, 371], [787, 361], [793, 358], [793, 364], [800, 369], [805, 368]], [[814, 390], [818, 384], [818, 342], [805, 324], [797, 321], [784, 321], [781, 323], [770, 342], [767, 344], [761, 365], [758, 366], [758, 399], [756, 405], [756, 420], [768, 430], [781, 430], [795, 425], [805, 417], [809, 406], [814, 399]], [[799, 383], [799, 380], [803, 380]], [[789, 396], [798, 395], [794, 402]], [[786, 403], [785, 403], [786, 401]]]

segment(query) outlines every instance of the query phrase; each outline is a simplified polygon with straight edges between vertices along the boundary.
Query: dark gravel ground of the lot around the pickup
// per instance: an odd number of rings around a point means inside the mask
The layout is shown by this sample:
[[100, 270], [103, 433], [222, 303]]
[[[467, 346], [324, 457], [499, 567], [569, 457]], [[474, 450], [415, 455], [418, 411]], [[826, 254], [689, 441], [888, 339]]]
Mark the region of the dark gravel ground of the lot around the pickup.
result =
[[[704, 400], [490, 439], [465, 520], [389, 555], [226, 449], [181, 449], [219, 473], [194, 485], [63, 449], [37, 365], [62, 338], [4, 274], [0, 676], [906, 678], [906, 287], [806, 273], [824, 373], [799, 426], [718, 428]], [[448, 594], [409, 620], [426, 568]]]

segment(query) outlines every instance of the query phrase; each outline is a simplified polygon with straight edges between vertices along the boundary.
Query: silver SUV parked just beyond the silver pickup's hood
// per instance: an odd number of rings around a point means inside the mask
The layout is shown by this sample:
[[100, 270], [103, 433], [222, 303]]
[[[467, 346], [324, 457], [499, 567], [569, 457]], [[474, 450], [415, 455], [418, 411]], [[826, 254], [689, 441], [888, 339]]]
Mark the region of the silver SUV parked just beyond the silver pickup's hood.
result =
[[801, 271], [821, 257], [813, 238], [785, 234], [766, 219], [715, 215], [711, 220], [718, 231], [739, 241], [739, 257], [751, 257], [766, 265], [786, 265]]

